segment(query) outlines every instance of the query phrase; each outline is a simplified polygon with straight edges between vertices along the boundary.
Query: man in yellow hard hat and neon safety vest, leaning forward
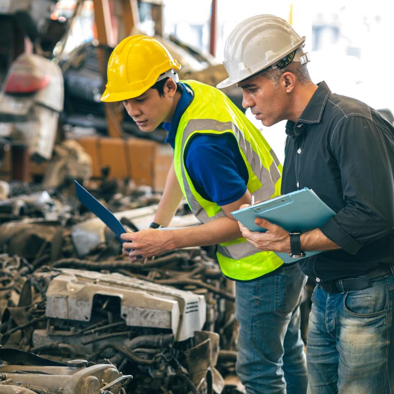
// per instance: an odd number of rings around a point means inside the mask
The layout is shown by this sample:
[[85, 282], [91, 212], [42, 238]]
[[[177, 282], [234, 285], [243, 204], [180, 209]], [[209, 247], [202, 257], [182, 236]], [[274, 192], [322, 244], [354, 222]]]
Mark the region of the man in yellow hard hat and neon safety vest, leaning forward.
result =
[[[131, 260], [165, 251], [217, 245], [222, 273], [236, 281], [240, 323], [237, 371], [249, 394], [306, 392], [299, 301], [305, 276], [241, 237], [230, 212], [279, 195], [282, 166], [261, 133], [221, 91], [197, 81], [179, 82], [181, 66], [157, 40], [125, 38], [108, 61], [102, 101], [123, 101], [140, 130], [168, 131], [174, 149], [152, 229], [122, 234]], [[167, 226], [186, 198], [200, 226]]]

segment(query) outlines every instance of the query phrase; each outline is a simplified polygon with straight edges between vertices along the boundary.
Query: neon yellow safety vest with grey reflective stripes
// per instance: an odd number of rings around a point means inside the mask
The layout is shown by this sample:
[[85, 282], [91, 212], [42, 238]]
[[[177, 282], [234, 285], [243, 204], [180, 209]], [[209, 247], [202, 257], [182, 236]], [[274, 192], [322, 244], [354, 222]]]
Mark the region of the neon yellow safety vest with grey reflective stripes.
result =
[[[182, 82], [192, 89], [194, 97], [176, 131], [174, 169], [182, 193], [197, 219], [207, 223], [226, 215], [218, 204], [201, 197], [186, 170], [185, 148], [197, 133], [233, 134], [248, 170], [249, 192], [258, 201], [279, 196], [282, 165], [261, 132], [220, 90], [193, 80]], [[259, 278], [283, 264], [275, 253], [261, 251], [245, 238], [221, 243], [216, 255], [222, 273], [239, 281]]]

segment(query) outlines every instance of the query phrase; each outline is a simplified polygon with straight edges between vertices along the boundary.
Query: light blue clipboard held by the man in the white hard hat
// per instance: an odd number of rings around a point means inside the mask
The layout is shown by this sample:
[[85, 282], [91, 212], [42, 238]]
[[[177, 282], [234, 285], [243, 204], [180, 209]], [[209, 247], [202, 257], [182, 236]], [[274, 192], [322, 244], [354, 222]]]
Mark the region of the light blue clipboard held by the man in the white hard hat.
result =
[[[251, 231], [266, 231], [255, 219], [261, 217], [288, 231], [309, 231], [321, 227], [335, 212], [313, 190], [304, 188], [286, 195], [231, 212], [231, 215]], [[276, 253], [276, 252], [275, 252]], [[305, 257], [293, 259], [287, 253], [276, 253], [285, 263], [305, 259], [321, 251], [305, 252]]]

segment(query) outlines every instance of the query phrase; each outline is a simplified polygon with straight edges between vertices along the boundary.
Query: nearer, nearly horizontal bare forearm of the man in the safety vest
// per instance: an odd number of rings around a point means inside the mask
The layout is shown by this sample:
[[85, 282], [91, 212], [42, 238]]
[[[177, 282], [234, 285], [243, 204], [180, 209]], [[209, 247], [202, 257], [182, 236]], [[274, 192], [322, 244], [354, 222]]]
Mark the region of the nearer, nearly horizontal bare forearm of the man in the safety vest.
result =
[[211, 222], [179, 230], [163, 230], [169, 249], [216, 245], [242, 237], [236, 221], [221, 217]]

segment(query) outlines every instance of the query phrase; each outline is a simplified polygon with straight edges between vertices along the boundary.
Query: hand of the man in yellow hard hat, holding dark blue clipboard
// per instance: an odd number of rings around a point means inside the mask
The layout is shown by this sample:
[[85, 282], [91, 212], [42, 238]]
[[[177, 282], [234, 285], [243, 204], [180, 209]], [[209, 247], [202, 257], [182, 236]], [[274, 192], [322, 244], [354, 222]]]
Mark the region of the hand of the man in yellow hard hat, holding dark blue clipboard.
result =
[[144, 258], [158, 256], [167, 250], [172, 250], [170, 245], [168, 231], [147, 229], [137, 232], [125, 232], [121, 238], [126, 241], [122, 245], [122, 252], [129, 256], [131, 261], [138, 257]]

